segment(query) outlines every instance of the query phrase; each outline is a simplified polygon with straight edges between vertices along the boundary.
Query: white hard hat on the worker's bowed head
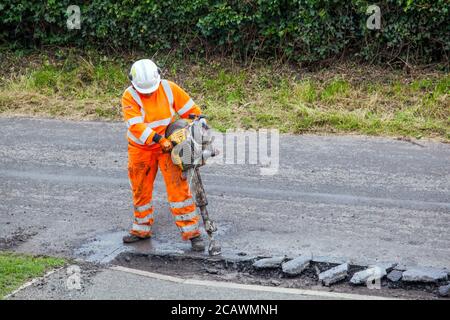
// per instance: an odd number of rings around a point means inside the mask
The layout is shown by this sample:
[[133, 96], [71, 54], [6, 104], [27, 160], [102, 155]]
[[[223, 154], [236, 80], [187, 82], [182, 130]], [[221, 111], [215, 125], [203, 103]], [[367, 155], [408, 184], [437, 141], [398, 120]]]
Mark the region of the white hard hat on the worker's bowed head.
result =
[[131, 66], [129, 78], [134, 88], [143, 94], [156, 91], [161, 82], [159, 69], [150, 59], [138, 60]]

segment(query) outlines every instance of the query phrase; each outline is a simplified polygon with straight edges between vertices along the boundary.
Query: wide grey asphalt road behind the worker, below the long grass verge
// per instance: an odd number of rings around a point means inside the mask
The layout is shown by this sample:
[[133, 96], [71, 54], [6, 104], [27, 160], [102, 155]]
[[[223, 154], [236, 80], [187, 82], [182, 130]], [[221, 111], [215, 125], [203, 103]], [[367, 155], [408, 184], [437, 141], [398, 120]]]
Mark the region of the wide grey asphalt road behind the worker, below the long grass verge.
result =
[[[67, 257], [89, 254], [80, 251], [87, 243], [101, 250], [104, 239], [119, 248], [132, 214], [125, 131], [122, 123], [1, 118], [3, 243]], [[273, 176], [249, 164], [203, 168], [223, 251], [450, 266], [450, 145], [420, 143], [282, 135]], [[161, 176], [154, 198], [148, 250], [188, 248]]]

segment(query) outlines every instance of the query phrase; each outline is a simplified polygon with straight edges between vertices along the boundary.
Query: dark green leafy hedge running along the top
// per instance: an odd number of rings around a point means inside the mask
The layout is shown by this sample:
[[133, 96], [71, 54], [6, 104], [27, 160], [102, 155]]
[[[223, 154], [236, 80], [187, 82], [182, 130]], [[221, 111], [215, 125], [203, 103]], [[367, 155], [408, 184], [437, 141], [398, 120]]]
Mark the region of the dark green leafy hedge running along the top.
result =
[[[81, 8], [67, 30], [66, 8]], [[381, 30], [366, 28], [363, 0], [0, 0], [9, 46], [75, 45], [314, 62], [341, 56], [447, 61], [448, 0], [385, 0]]]

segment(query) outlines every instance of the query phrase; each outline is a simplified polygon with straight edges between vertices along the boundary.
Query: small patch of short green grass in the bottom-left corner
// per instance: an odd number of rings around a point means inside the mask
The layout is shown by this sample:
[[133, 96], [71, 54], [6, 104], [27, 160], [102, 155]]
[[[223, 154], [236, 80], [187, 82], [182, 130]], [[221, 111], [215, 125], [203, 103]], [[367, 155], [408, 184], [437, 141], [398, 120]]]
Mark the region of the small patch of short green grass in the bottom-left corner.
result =
[[60, 258], [0, 252], [0, 299], [25, 282], [64, 265]]

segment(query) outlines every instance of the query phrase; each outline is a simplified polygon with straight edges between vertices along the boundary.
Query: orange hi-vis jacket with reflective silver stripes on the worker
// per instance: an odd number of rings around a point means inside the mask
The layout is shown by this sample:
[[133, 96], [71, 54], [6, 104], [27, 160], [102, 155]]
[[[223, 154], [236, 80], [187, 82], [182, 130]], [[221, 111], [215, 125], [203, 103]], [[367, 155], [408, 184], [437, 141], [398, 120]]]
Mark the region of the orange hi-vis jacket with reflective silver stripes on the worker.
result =
[[153, 137], [155, 133], [164, 136], [177, 114], [181, 118], [188, 118], [191, 113], [201, 114], [189, 95], [168, 80], [161, 80], [158, 89], [150, 95], [142, 95], [132, 86], [128, 87], [122, 96], [122, 110], [129, 143], [146, 150], [160, 148]]

